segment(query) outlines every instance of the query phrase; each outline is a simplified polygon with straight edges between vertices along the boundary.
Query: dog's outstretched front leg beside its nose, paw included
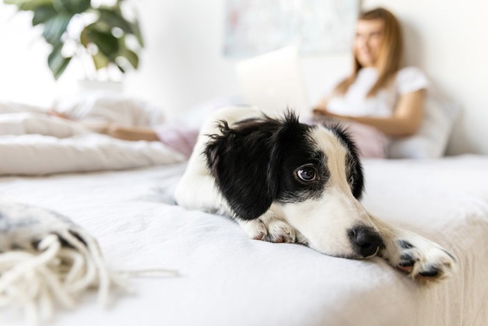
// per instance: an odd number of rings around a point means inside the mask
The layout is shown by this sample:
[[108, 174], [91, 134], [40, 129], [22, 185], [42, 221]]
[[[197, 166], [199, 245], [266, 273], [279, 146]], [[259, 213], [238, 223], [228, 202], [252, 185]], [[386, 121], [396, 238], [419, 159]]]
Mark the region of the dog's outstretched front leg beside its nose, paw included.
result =
[[438, 280], [449, 276], [456, 268], [456, 260], [439, 244], [420, 235], [369, 215], [379, 230], [385, 248], [379, 255], [390, 265], [415, 279]]

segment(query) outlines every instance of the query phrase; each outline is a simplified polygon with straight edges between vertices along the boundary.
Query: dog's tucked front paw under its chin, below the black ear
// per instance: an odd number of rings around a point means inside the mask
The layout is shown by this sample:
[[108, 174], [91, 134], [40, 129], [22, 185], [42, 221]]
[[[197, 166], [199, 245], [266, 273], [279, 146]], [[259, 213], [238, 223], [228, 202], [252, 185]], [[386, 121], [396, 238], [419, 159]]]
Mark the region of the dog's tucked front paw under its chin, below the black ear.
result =
[[251, 221], [239, 221], [250, 239], [266, 242], [296, 242], [296, 232], [288, 223], [274, 216], [261, 216]]

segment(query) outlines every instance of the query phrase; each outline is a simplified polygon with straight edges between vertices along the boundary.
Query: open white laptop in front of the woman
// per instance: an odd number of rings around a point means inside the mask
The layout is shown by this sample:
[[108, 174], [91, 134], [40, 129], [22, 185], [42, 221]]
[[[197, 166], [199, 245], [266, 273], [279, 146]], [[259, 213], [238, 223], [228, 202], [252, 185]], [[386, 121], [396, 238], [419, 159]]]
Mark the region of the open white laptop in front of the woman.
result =
[[296, 46], [240, 61], [236, 73], [248, 104], [266, 111], [284, 112], [289, 108], [300, 118], [312, 117]]

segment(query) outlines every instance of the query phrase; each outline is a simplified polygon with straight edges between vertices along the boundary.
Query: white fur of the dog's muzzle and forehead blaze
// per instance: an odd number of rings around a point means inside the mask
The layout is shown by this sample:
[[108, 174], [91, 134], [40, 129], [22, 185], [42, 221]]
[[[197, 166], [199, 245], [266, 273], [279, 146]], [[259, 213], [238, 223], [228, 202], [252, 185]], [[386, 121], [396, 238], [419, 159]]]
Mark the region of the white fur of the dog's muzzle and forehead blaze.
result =
[[374, 228], [365, 209], [353, 197], [346, 179], [347, 149], [331, 131], [319, 126], [312, 138], [328, 155], [328, 186], [318, 199], [282, 205], [282, 216], [322, 253], [359, 258], [353, 251], [346, 230], [354, 225]]

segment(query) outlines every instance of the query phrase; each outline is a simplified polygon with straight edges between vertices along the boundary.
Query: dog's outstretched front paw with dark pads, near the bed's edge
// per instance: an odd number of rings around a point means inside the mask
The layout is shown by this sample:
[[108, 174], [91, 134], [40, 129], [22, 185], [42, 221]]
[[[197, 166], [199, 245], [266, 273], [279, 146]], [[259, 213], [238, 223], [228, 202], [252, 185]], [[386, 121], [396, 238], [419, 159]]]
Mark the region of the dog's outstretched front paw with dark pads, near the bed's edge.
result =
[[386, 258], [390, 264], [413, 279], [436, 281], [445, 279], [455, 271], [457, 264], [453, 255], [438, 244], [422, 237], [400, 238], [396, 248]]

